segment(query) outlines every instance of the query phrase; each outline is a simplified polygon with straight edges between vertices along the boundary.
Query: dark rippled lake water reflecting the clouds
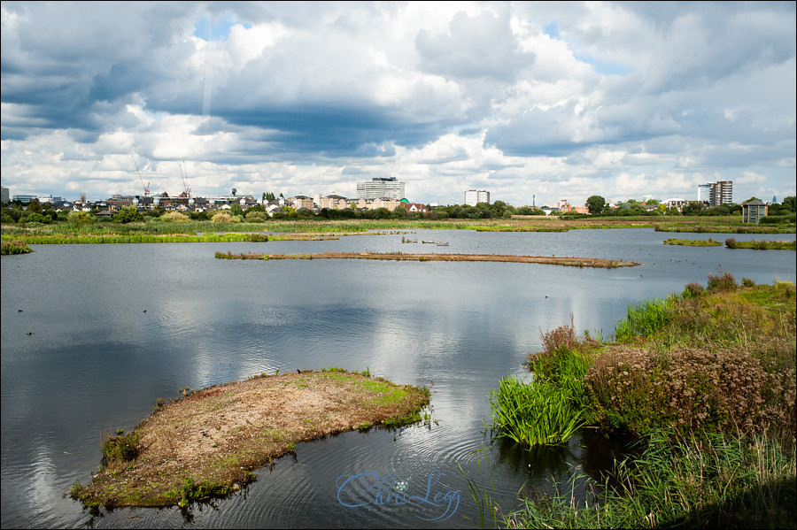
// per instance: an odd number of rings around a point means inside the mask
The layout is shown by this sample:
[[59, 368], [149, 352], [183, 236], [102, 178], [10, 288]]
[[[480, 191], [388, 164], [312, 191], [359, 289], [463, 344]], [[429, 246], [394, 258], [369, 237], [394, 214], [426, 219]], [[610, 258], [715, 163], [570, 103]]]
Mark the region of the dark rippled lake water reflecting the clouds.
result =
[[[705, 285], [710, 273], [795, 280], [791, 251], [662, 245], [672, 234], [650, 229], [403, 235], [418, 243], [390, 234], [40, 245], [27, 256], [3, 257], [2, 526], [474, 527], [478, 511], [463, 471], [480, 484], [492, 475], [491, 495], [509, 510], [524, 484], [566, 478], [575, 465], [597, 474], [616, 454], [590, 433], [534, 451], [491, 441], [489, 393], [501, 377], [525, 375], [523, 357], [540, 349], [542, 332], [569, 324], [572, 314], [576, 330], [611, 334], [629, 304], [680, 292], [690, 281]], [[642, 265], [232, 261], [214, 258], [216, 250], [553, 254]], [[75, 481], [89, 483], [101, 434], [132, 428], [159, 397], [276, 369], [329, 366], [368, 367], [397, 383], [430, 386], [438, 423], [299, 444], [296, 457], [259, 470], [240, 495], [188, 514], [125, 509], [92, 518], [64, 496]], [[395, 473], [409, 494], [449, 493], [452, 503], [345, 506], [339, 478], [359, 473], [379, 480]], [[368, 501], [362, 485], [353, 494]]]

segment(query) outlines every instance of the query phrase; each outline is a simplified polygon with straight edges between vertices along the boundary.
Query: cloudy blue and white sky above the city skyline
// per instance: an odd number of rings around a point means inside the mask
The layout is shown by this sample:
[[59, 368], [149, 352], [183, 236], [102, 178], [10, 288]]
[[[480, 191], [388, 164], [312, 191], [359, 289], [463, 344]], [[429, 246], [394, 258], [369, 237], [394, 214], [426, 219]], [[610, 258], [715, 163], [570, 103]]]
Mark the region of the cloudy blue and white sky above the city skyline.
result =
[[[11, 195], [795, 195], [794, 2], [2, 2]], [[136, 169], [136, 166], [138, 169]], [[183, 179], [183, 176], [186, 178]]]

